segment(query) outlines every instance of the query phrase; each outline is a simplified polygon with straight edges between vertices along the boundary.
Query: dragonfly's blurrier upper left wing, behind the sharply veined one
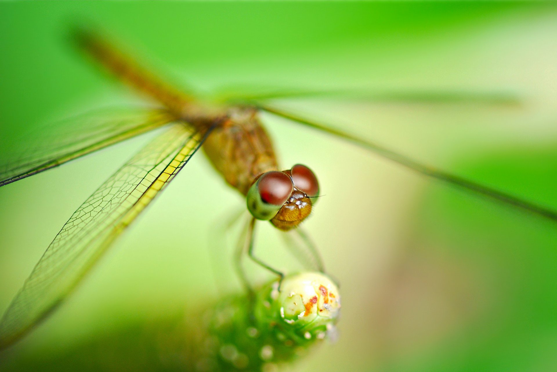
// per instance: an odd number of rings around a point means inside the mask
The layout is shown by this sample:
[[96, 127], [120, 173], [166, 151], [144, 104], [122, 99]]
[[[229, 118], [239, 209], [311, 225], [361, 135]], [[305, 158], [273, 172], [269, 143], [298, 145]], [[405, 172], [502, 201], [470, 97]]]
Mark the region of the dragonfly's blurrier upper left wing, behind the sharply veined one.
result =
[[[164, 110], [96, 110], [46, 125], [17, 143], [2, 143], [0, 186], [163, 126]], [[4, 141], [3, 141], [4, 142]]]

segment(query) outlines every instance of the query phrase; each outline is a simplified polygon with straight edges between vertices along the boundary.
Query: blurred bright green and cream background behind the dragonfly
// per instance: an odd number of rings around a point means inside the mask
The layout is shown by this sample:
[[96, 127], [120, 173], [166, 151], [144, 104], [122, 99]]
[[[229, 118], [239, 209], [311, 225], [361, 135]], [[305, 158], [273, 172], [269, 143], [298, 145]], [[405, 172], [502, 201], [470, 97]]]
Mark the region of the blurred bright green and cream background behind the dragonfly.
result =
[[[241, 86], [516, 96], [515, 104], [276, 104], [557, 209], [554, 2], [2, 2], [4, 150], [53, 118], [140, 102], [69, 46], [69, 25], [83, 19], [177, 85], [202, 92]], [[292, 370], [557, 369], [553, 222], [263, 119], [285, 168], [301, 162], [317, 172], [326, 196], [305, 228], [343, 294], [338, 342]], [[31, 135], [28, 146], [41, 137]], [[1, 311], [72, 212], [148, 138], [0, 189]], [[84, 345], [218, 297], [210, 237], [242, 204], [202, 155], [193, 158], [75, 295], [0, 355], [0, 366], [74, 370], [68, 360], [85, 360]], [[264, 225], [260, 255], [290, 268], [280, 238]], [[219, 248], [217, 282], [235, 283], [230, 249]], [[118, 357], [104, 356], [107, 370], [122, 368]]]

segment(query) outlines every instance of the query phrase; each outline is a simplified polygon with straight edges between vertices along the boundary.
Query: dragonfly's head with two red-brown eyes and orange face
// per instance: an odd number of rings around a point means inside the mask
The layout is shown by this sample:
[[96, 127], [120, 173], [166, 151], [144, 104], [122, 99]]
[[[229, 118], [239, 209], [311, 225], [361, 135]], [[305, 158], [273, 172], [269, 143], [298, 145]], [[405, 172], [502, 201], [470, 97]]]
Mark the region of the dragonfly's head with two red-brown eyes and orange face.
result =
[[257, 177], [247, 193], [247, 208], [256, 219], [290, 230], [310, 215], [311, 198], [317, 195], [319, 183], [314, 172], [296, 164], [289, 170]]

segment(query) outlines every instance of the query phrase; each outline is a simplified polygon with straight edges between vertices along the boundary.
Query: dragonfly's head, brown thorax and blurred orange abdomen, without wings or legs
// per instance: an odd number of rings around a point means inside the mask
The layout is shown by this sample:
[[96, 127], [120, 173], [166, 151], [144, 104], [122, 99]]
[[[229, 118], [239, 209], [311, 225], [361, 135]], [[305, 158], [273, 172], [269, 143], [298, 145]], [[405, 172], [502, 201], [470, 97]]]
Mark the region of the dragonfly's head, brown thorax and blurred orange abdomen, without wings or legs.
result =
[[[110, 44], [84, 31], [78, 34], [78, 40], [97, 62], [162, 103], [177, 120], [194, 126], [200, 133], [211, 132], [204, 140], [204, 152], [228, 184], [248, 196], [248, 209], [256, 219], [271, 220], [279, 229], [289, 230], [310, 214], [311, 200], [305, 191], [317, 196], [317, 178], [300, 165], [292, 169], [294, 174], [292, 170], [282, 176], [276, 172], [278, 163], [271, 139], [255, 108], [202, 106], [135, 66]], [[273, 171], [276, 173], [265, 174]]]

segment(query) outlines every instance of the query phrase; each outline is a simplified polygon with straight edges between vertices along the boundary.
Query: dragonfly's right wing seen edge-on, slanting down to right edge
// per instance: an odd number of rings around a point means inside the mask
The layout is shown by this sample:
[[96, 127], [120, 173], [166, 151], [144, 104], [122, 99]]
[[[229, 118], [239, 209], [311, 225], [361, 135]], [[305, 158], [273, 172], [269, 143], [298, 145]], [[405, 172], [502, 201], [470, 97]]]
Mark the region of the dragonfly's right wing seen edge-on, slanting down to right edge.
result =
[[363, 138], [355, 136], [351, 133], [343, 132], [336, 128], [329, 127], [315, 121], [307, 120], [306, 118], [302, 118], [300, 116], [292, 115], [291, 113], [279, 110], [272, 106], [267, 106], [265, 104], [258, 104], [257, 107], [260, 110], [269, 112], [273, 115], [283, 117], [287, 120], [314, 128], [316, 130], [325, 133], [329, 133], [330, 135], [333, 135], [335, 137], [342, 138], [343, 140], [355, 143], [360, 147], [372, 151], [381, 157], [394, 161], [424, 176], [435, 178], [436, 180], [449, 183], [450, 185], [458, 186], [461, 189], [464, 189], [468, 192], [472, 192], [473, 194], [486, 196], [492, 200], [496, 200], [504, 204], [512, 205], [519, 209], [532, 212], [533, 214], [544, 217], [545, 219], [557, 221], [557, 211], [552, 210], [548, 207], [534, 204], [530, 201], [521, 199], [520, 197], [506, 194], [505, 192], [502, 192], [500, 190], [496, 190], [491, 187], [481, 185], [481, 183], [473, 182], [467, 180], [466, 178], [453, 175], [452, 173], [438, 170], [432, 166], [425, 165], [416, 160], [413, 160], [408, 156], [402, 155], [401, 153], [390, 150], [389, 148], [380, 146], [377, 143], [364, 140]]

